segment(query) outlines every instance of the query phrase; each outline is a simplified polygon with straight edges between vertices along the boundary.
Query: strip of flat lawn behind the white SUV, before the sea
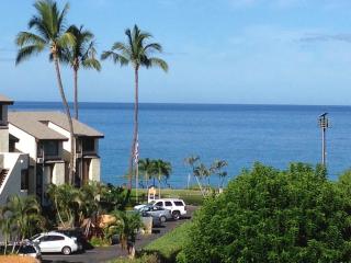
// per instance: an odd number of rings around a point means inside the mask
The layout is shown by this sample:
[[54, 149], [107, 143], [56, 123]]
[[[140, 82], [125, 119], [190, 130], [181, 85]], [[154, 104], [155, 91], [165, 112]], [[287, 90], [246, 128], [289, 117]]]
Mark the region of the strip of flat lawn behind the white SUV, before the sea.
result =
[[[132, 201], [135, 203], [135, 188], [132, 190]], [[147, 190], [138, 190], [138, 201], [139, 203], [147, 202]], [[200, 206], [203, 203], [203, 196], [199, 190], [171, 190], [165, 188], [161, 190], [161, 198], [180, 198], [185, 202], [186, 205], [196, 205]]]

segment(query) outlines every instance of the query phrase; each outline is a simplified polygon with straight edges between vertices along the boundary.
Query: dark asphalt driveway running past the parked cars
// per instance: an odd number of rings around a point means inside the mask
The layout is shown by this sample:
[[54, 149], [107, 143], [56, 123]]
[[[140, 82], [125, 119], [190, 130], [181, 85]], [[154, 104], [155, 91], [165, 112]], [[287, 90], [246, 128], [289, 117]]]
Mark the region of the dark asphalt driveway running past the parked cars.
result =
[[[189, 220], [193, 215], [193, 211], [196, 207], [186, 206], [188, 207], [188, 217], [182, 218], [178, 221], [167, 221], [165, 227], [154, 228], [152, 235], [149, 236], [138, 236], [136, 241], [136, 249], [140, 250], [146, 244], [151, 242], [155, 239], [160, 238], [165, 233], [169, 232], [177, 226], [183, 224]], [[88, 250], [84, 253], [80, 254], [71, 254], [71, 255], [61, 255], [61, 254], [45, 254], [43, 255], [43, 263], [100, 263], [106, 262], [109, 260], [116, 259], [117, 256], [126, 255], [125, 251], [122, 251], [120, 245], [111, 245], [107, 248], [97, 248], [93, 250]]]

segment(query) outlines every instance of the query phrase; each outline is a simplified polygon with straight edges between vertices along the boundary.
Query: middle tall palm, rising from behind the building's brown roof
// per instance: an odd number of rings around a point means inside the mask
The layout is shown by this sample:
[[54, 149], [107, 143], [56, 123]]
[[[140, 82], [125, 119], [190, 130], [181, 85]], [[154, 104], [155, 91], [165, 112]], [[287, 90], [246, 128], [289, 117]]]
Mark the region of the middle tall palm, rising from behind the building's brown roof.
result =
[[69, 26], [67, 32], [71, 33], [76, 42], [64, 52], [64, 59], [69, 62], [73, 69], [75, 76], [75, 117], [78, 119], [78, 70], [80, 67], [84, 69], [101, 70], [101, 65], [95, 58], [97, 50], [93, 42], [94, 35], [81, 25], [79, 28], [76, 25]]

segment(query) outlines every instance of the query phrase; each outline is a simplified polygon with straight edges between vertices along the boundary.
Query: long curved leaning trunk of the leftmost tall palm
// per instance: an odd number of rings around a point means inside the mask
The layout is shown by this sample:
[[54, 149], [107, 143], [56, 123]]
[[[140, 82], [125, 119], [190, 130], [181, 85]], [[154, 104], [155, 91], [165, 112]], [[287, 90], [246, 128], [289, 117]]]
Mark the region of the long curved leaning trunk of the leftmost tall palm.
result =
[[72, 118], [70, 115], [69, 111], [69, 105], [66, 100], [65, 91], [64, 91], [64, 85], [63, 85], [63, 80], [61, 80], [61, 75], [59, 70], [59, 62], [57, 56], [54, 54], [54, 61], [55, 61], [55, 69], [56, 69], [56, 77], [57, 77], [57, 83], [58, 83], [58, 90], [61, 95], [63, 104], [66, 111], [66, 116], [69, 125], [69, 135], [70, 135], [70, 149], [71, 149], [71, 155], [70, 155], [70, 165], [69, 165], [69, 175], [68, 175], [68, 181], [70, 184], [73, 184], [75, 182], [75, 170], [76, 170], [76, 164], [75, 164], [75, 157], [76, 157], [76, 140], [75, 140], [75, 133], [73, 133], [73, 123]]

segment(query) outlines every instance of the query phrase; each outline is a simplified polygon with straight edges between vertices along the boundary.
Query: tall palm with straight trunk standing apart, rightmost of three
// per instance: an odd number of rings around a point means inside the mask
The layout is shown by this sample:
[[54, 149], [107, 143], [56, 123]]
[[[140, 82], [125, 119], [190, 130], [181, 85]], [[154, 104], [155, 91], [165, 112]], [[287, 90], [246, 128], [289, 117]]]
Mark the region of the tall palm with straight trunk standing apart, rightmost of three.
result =
[[168, 65], [165, 60], [152, 57], [155, 52], [162, 52], [162, 47], [158, 43], [146, 43], [151, 34], [140, 31], [137, 25], [134, 25], [133, 31], [127, 28], [125, 31], [127, 36], [126, 43], [116, 42], [113, 44], [111, 50], [103, 52], [101, 59], [111, 58], [115, 64], [121, 66], [127, 66], [132, 64], [134, 69], [134, 81], [135, 81], [135, 103], [134, 103], [134, 136], [131, 149], [129, 158], [129, 183], [128, 188], [132, 188], [132, 172], [133, 172], [133, 159], [136, 151], [136, 141], [138, 136], [138, 83], [139, 83], [139, 68], [150, 68], [150, 67], [160, 67], [163, 71], [168, 71]]

